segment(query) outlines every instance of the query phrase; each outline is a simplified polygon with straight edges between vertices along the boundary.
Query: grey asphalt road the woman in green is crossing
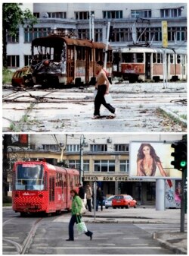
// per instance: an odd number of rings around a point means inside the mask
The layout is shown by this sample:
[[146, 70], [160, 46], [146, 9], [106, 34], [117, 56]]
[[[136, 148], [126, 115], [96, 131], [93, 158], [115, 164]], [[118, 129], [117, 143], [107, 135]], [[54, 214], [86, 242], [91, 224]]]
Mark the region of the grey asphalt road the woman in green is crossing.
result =
[[75, 227], [75, 241], [67, 242], [70, 213], [39, 219], [22, 218], [20, 213], [4, 209], [3, 254], [19, 254], [19, 250], [22, 254], [172, 254], [152, 238], [144, 224], [87, 223], [94, 232], [91, 241], [77, 235]]

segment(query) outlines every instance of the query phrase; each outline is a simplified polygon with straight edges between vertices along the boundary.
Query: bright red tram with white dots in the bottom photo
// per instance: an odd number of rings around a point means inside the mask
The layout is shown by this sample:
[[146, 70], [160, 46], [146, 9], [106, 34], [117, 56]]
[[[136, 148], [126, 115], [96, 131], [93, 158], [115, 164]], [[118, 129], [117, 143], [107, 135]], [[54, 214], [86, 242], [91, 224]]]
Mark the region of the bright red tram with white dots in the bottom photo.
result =
[[78, 190], [79, 171], [42, 161], [17, 162], [13, 168], [13, 210], [60, 213], [70, 210], [70, 190]]

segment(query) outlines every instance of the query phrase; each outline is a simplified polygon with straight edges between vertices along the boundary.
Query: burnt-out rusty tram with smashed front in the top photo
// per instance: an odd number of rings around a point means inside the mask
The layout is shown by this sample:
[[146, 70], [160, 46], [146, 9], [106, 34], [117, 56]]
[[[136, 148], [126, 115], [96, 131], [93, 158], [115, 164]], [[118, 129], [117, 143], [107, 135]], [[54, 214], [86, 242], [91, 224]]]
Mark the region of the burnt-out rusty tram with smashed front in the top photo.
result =
[[[104, 60], [106, 45], [51, 33], [32, 41], [31, 77], [24, 83], [50, 86], [95, 84], [95, 63]], [[112, 75], [112, 49], [107, 49], [107, 72]]]

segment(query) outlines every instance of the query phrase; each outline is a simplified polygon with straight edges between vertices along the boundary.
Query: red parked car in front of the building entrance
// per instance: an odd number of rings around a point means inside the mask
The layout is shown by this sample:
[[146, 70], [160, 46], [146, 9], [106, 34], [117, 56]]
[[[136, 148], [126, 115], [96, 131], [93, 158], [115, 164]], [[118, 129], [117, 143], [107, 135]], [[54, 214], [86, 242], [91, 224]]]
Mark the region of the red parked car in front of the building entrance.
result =
[[129, 194], [117, 194], [112, 200], [113, 209], [117, 207], [121, 208], [129, 208], [129, 207], [137, 207], [137, 201], [132, 198]]

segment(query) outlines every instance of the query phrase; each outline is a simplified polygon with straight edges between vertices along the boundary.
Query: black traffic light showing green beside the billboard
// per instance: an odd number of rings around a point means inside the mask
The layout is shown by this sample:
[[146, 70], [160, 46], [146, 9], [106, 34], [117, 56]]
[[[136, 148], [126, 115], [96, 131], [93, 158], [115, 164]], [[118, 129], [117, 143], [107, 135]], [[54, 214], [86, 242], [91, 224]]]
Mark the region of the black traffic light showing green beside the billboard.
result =
[[171, 156], [174, 156], [171, 165], [174, 169], [183, 171], [187, 167], [187, 141], [176, 141], [171, 147], [175, 149], [175, 152], [171, 153]]

